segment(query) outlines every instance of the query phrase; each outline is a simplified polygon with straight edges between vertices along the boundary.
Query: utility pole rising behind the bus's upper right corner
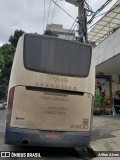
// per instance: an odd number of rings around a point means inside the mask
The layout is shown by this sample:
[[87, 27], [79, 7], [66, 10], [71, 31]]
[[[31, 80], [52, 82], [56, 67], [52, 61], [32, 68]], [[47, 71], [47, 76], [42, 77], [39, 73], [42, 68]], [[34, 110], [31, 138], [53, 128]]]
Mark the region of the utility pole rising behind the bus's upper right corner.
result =
[[83, 41], [85, 38], [85, 43], [88, 42], [87, 38], [87, 16], [85, 13], [84, 1], [85, 0], [65, 0], [68, 3], [71, 3], [78, 7], [78, 33], [79, 33], [79, 41]]

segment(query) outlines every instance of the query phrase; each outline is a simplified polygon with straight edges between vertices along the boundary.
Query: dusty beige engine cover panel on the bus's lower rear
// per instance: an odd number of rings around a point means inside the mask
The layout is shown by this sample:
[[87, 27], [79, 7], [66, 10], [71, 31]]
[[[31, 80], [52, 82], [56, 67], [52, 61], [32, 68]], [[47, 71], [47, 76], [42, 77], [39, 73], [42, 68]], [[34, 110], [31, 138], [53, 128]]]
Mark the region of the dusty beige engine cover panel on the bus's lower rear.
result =
[[[24, 98], [25, 97], [25, 98]], [[56, 131], [90, 131], [92, 95], [17, 86], [11, 127]]]

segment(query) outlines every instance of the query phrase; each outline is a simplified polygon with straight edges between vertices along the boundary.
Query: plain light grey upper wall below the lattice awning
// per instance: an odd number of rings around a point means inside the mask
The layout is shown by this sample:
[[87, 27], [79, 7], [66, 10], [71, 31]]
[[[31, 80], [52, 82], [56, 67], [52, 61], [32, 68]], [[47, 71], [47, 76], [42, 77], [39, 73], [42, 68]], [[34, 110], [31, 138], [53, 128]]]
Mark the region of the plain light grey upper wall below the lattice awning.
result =
[[120, 29], [116, 30], [107, 39], [101, 42], [93, 50], [96, 57], [96, 65], [108, 60], [120, 53]]

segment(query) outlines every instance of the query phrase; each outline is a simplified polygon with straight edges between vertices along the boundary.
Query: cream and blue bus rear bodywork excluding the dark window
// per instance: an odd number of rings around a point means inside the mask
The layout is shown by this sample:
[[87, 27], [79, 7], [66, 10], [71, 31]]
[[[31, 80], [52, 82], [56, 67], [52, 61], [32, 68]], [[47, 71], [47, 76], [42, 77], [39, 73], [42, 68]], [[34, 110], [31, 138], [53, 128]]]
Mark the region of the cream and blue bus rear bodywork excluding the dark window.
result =
[[5, 143], [27, 140], [29, 145], [88, 146], [95, 90], [93, 55], [87, 77], [61, 76], [26, 69], [23, 46], [24, 35], [10, 76], [8, 93], [13, 88], [14, 97], [9, 107], [8, 96]]

